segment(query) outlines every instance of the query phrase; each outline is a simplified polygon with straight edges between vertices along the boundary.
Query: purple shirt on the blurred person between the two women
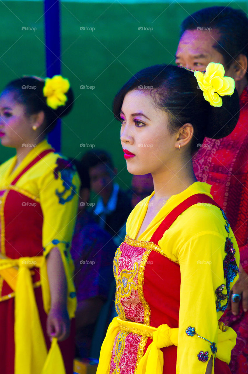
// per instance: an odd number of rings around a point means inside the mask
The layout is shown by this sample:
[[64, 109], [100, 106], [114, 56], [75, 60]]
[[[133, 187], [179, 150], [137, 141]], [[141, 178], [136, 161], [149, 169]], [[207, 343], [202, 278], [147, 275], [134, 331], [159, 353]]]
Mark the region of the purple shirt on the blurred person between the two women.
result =
[[95, 223], [89, 212], [78, 215], [71, 248], [78, 301], [108, 297], [109, 286], [114, 281], [116, 249], [111, 235]]

